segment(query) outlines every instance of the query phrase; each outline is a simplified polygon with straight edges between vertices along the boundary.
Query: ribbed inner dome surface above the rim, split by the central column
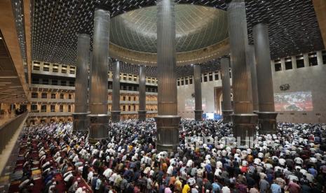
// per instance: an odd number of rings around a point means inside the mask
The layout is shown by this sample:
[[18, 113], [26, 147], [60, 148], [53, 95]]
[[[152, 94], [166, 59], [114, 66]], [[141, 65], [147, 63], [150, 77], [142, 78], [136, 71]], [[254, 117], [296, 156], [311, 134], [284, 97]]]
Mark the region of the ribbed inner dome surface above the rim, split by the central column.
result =
[[[156, 53], [156, 6], [111, 18], [110, 41], [137, 52]], [[206, 48], [228, 37], [226, 12], [217, 8], [175, 5], [177, 52]]]

